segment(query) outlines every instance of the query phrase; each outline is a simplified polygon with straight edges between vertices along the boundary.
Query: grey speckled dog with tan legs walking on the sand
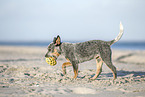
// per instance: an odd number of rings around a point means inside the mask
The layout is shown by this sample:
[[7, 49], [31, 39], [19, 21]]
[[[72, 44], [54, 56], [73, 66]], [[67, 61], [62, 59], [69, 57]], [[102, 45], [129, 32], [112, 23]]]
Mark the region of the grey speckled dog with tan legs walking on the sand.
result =
[[73, 66], [74, 79], [78, 76], [78, 64], [92, 59], [96, 59], [96, 74], [90, 78], [96, 79], [102, 72], [102, 65], [105, 63], [113, 72], [113, 78], [117, 78], [116, 67], [112, 64], [110, 46], [119, 41], [123, 35], [123, 25], [120, 22], [120, 32], [118, 36], [111, 41], [91, 40], [81, 43], [61, 42], [58, 35], [54, 37], [53, 42], [48, 45], [48, 52], [45, 57], [54, 57], [57, 60], [59, 55], [64, 55], [68, 62], [62, 64], [63, 74], [66, 74], [66, 67]]

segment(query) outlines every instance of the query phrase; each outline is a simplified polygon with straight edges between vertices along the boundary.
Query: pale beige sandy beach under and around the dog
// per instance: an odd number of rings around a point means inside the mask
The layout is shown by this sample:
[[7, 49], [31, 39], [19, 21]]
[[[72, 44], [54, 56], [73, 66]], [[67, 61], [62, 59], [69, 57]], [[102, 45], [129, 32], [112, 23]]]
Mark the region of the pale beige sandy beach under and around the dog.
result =
[[95, 60], [79, 64], [73, 79], [72, 67], [62, 75], [63, 56], [56, 66], [45, 62], [47, 47], [0, 46], [0, 97], [145, 97], [145, 51], [112, 50], [118, 78], [104, 64], [101, 75]]

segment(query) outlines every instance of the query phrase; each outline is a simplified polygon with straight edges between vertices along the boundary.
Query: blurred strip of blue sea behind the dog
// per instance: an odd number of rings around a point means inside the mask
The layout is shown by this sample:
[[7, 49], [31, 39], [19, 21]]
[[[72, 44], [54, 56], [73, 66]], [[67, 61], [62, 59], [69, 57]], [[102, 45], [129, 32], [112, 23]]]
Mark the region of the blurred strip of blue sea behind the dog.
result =
[[[77, 43], [80, 41], [71, 41]], [[0, 42], [0, 46], [36, 46], [47, 47], [51, 42], [35, 41], [35, 42]], [[113, 49], [120, 50], [145, 50], [145, 41], [142, 42], [117, 42], [111, 46]]]

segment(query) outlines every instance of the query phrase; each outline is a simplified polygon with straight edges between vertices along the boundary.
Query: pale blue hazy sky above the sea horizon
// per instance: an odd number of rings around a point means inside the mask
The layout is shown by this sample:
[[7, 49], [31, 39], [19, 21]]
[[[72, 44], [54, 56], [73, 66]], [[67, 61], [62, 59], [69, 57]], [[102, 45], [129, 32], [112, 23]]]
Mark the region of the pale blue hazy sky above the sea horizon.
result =
[[145, 0], [0, 0], [0, 41], [145, 41]]

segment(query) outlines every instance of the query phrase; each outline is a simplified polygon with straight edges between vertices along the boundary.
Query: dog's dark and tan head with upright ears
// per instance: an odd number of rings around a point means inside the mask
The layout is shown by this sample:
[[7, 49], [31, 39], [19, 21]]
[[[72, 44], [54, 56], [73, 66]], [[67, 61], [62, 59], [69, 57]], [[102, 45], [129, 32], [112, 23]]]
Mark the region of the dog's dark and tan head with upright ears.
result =
[[48, 51], [45, 55], [46, 58], [48, 57], [54, 57], [56, 60], [58, 56], [61, 54], [61, 39], [58, 35], [57, 37], [54, 37], [53, 42], [48, 45]]

